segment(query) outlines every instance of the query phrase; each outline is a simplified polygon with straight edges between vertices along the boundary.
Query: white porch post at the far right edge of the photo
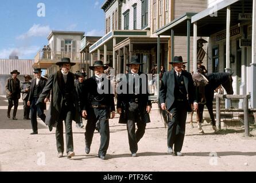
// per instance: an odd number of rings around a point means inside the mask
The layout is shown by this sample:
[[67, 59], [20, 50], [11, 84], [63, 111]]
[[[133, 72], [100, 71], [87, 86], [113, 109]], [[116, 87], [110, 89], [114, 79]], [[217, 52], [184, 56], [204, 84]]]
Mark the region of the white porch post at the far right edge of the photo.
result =
[[[250, 86], [250, 94], [251, 94], [251, 108], [256, 108], [256, 0], [253, 0], [253, 31], [252, 31], [252, 42], [251, 42], [251, 86]], [[256, 115], [254, 115], [256, 116]], [[256, 123], [256, 122], [255, 122]]]

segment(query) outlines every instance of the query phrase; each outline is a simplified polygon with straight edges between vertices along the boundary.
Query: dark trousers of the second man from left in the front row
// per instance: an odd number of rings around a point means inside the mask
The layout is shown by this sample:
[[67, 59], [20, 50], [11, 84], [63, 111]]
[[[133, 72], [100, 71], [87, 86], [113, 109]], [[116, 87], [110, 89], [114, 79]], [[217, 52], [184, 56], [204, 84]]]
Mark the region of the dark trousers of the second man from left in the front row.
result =
[[86, 146], [90, 148], [92, 137], [94, 137], [96, 122], [99, 122], [100, 147], [98, 155], [99, 157], [106, 156], [110, 141], [108, 111], [107, 109], [90, 108], [87, 110], [87, 114], [86, 132], [84, 133], [84, 136], [86, 137]]

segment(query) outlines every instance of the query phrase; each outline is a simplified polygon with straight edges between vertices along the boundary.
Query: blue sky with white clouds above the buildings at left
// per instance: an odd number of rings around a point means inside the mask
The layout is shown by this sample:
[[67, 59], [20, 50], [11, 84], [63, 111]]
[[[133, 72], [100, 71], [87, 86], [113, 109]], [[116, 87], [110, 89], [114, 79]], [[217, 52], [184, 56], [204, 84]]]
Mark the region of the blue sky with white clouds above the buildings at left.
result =
[[[104, 0], [8, 0], [0, 5], [0, 59], [34, 59], [51, 30], [104, 35]], [[40, 3], [45, 6], [45, 17]]]

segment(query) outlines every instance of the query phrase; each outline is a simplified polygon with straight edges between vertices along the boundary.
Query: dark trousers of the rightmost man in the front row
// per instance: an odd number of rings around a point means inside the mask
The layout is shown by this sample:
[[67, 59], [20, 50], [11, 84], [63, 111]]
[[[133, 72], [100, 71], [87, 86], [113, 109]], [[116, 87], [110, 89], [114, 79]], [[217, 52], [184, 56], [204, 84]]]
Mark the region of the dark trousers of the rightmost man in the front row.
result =
[[172, 119], [168, 122], [167, 131], [167, 145], [173, 148], [174, 152], [181, 152], [183, 141], [185, 137], [185, 125], [187, 119], [187, 106], [185, 102], [188, 101], [174, 101], [170, 113], [173, 114]]

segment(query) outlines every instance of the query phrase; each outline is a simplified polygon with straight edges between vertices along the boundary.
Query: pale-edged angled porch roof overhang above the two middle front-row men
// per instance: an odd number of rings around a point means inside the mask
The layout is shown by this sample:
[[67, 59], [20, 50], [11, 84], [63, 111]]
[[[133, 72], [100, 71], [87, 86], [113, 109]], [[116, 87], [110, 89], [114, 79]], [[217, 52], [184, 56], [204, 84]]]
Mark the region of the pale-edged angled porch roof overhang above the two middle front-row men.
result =
[[[92, 46], [90, 46], [90, 53], [96, 50], [103, 50], [103, 46], [113, 49], [113, 38], [116, 38], [116, 43], [123, 41], [128, 37], [149, 37], [149, 30], [113, 30], [100, 38]], [[108, 49], [109, 50], [109, 49]]]

